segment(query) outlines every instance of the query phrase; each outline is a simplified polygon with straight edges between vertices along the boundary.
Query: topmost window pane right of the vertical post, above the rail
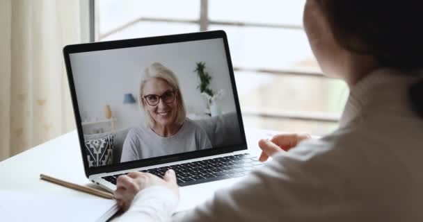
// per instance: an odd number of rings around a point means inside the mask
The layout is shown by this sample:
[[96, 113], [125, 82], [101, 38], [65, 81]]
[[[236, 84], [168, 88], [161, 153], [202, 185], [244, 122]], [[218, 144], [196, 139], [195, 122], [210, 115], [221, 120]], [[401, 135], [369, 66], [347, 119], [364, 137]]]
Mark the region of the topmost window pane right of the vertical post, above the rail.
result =
[[225, 22], [258, 22], [302, 26], [305, 0], [209, 0], [209, 18]]

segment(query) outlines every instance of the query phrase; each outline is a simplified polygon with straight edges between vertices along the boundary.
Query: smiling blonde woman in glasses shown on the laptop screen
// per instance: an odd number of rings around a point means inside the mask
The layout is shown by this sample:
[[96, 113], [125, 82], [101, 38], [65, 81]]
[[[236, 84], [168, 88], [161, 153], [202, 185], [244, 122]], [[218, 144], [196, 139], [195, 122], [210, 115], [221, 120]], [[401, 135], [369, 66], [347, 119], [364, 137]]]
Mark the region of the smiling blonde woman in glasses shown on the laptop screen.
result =
[[129, 130], [121, 162], [212, 148], [205, 130], [186, 118], [178, 80], [158, 62], [145, 69], [139, 101], [145, 124]]

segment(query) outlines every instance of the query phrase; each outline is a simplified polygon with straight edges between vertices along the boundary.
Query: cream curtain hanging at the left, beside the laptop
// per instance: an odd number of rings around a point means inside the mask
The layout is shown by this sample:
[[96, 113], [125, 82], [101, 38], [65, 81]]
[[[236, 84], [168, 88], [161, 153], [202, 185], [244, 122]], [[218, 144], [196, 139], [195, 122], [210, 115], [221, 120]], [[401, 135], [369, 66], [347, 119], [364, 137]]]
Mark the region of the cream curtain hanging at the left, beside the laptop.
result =
[[75, 128], [62, 49], [76, 0], [0, 0], [0, 161]]

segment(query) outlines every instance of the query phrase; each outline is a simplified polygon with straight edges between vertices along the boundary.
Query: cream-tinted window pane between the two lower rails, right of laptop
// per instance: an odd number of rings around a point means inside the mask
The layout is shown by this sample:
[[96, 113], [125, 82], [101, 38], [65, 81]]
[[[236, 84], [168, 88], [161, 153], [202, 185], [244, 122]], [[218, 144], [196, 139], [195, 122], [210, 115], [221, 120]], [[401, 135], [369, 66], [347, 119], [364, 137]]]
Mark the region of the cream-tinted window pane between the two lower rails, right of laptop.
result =
[[235, 80], [241, 107], [255, 110], [340, 115], [349, 94], [343, 81], [330, 78], [238, 71]]

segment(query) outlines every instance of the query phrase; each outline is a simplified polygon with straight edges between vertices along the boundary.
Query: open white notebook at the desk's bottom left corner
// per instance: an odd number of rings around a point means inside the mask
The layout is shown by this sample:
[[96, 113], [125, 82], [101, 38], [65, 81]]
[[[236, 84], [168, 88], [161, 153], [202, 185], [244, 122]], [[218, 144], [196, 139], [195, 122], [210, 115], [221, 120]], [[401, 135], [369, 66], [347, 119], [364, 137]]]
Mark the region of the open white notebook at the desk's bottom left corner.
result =
[[1, 221], [106, 221], [115, 200], [0, 190]]

